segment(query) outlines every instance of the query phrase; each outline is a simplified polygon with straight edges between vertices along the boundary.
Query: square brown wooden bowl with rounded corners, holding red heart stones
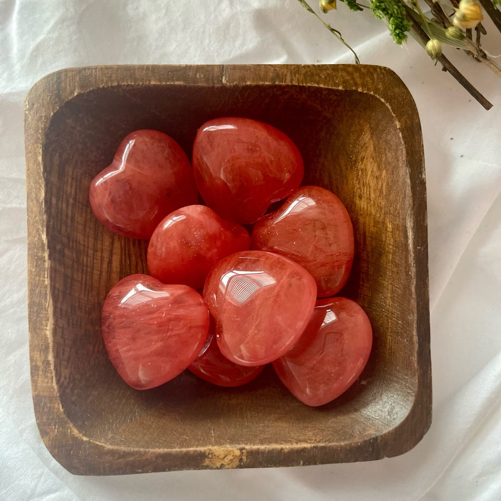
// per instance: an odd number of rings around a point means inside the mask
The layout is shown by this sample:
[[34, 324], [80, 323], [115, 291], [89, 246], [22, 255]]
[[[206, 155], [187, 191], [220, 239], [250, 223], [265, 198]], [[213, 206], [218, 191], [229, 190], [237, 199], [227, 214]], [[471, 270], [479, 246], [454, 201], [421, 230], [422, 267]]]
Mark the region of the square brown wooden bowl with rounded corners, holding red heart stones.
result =
[[[147, 391], [115, 372], [104, 298], [146, 272], [147, 242], [106, 230], [88, 189], [120, 141], [158, 129], [191, 154], [220, 116], [270, 123], [298, 145], [304, 184], [346, 204], [355, 262], [342, 295], [374, 329], [369, 363], [340, 398], [297, 401], [272, 370], [227, 389], [183, 373]], [[431, 421], [421, 130], [401, 80], [376, 66], [106, 66], [67, 69], [26, 100], [30, 358], [40, 433], [78, 474], [361, 461], [411, 449]]]

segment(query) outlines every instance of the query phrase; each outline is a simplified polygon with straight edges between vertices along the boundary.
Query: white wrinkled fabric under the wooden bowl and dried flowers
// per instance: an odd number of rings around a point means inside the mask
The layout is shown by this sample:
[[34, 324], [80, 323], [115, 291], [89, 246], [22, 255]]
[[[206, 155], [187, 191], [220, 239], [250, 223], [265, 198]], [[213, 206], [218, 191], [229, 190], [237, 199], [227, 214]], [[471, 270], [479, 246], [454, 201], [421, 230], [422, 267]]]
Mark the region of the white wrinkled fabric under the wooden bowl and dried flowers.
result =
[[[0, 0], [0, 498], [501, 499], [499, 79], [448, 51], [494, 104], [486, 112], [413, 40], [394, 45], [369, 12], [351, 13], [341, 4], [326, 20], [363, 63], [393, 69], [420, 113], [434, 398], [429, 432], [399, 457], [294, 468], [78, 477], [51, 457], [35, 423], [29, 375], [23, 101], [30, 87], [71, 66], [353, 60], [294, 0]], [[490, 34], [484, 47], [499, 54], [499, 36]]]

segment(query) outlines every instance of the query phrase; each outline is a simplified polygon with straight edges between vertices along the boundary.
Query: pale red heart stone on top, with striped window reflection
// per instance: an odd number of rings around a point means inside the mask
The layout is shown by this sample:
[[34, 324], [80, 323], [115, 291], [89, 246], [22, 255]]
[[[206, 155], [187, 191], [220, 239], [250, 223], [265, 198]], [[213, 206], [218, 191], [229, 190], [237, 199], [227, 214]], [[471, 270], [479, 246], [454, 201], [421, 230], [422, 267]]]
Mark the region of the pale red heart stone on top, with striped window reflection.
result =
[[304, 268], [259, 250], [223, 258], [203, 288], [221, 353], [247, 366], [264, 365], [289, 350], [310, 319], [316, 294]]

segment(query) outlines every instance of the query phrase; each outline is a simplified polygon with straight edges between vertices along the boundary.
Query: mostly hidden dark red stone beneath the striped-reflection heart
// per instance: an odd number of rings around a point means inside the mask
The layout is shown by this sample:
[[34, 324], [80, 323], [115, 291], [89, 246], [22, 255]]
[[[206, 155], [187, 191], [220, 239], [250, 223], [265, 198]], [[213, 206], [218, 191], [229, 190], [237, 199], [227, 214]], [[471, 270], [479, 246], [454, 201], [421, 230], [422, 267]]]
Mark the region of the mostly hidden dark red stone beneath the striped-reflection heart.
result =
[[265, 366], [248, 367], [229, 361], [217, 346], [215, 328], [211, 324], [205, 345], [188, 369], [204, 381], [218, 386], [241, 386], [256, 379]]

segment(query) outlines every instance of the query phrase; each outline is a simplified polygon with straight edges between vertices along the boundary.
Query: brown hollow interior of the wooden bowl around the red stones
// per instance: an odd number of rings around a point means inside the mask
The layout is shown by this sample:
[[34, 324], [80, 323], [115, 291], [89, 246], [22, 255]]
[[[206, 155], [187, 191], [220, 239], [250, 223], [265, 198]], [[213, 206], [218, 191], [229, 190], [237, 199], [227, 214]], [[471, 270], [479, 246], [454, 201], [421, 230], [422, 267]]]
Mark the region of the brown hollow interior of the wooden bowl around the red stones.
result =
[[[221, 116], [254, 118], [288, 134], [305, 160], [303, 184], [336, 193], [352, 218], [356, 255], [340, 295], [367, 312], [373, 351], [355, 384], [320, 408], [297, 401], [270, 368], [241, 388], [219, 388], [186, 372], [136, 391], [104, 348], [104, 298], [124, 276], [147, 273], [147, 242], [111, 233], [97, 221], [88, 201], [92, 178], [133, 130], [165, 132], [190, 156], [197, 128]], [[178, 449], [358, 442], [402, 422], [417, 391], [405, 155], [389, 108], [354, 90], [128, 85], [67, 101], [52, 117], [42, 161], [56, 384], [75, 428], [104, 444]]]

